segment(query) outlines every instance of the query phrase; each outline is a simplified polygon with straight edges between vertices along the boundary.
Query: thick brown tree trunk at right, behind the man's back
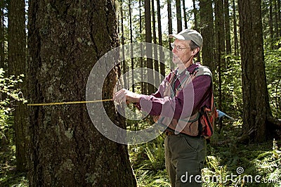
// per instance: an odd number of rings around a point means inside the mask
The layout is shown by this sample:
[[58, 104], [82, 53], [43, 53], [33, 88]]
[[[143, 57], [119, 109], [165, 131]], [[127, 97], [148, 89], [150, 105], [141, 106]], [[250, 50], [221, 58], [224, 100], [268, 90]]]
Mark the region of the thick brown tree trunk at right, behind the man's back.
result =
[[242, 60], [243, 130], [254, 130], [254, 141], [266, 140], [267, 115], [270, 114], [263, 56], [261, 0], [239, 0]]

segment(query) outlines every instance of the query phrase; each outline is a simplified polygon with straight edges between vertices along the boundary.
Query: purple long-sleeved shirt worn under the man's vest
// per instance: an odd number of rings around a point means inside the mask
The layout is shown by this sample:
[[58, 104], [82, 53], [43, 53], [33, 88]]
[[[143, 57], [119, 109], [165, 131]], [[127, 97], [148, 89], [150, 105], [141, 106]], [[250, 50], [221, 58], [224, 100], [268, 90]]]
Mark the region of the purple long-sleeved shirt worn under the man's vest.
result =
[[[176, 93], [183, 79], [186, 79], [200, 63], [192, 64], [183, 72], [176, 76], [176, 81], [171, 82]], [[177, 73], [177, 70], [174, 72]], [[164, 96], [166, 84], [171, 78], [172, 72], [169, 73], [160, 84], [159, 89], [150, 96], [141, 95], [141, 100], [137, 104], [138, 108], [148, 112], [150, 115], [162, 115], [164, 117], [173, 117], [180, 119], [190, 117], [191, 114], [198, 112], [200, 108], [211, 107], [211, 77], [209, 75], [198, 76], [192, 80], [183, 89], [179, 89], [176, 96]]]

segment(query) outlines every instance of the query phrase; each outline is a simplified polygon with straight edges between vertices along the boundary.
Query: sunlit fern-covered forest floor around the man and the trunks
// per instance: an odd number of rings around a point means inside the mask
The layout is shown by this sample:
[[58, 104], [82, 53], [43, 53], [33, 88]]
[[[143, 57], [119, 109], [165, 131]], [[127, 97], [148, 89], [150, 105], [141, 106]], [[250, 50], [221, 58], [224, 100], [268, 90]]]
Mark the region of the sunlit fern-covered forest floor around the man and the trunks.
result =
[[[203, 176], [221, 176], [204, 180], [202, 186], [281, 186], [281, 140], [265, 143], [236, 143], [239, 124], [226, 124], [207, 146]], [[225, 144], [218, 142], [230, 140]], [[170, 186], [164, 165], [164, 136], [149, 143], [129, 146], [129, 154], [138, 186]], [[218, 146], [219, 145], [219, 146]], [[230, 180], [228, 176], [232, 176]], [[245, 181], [243, 176], [261, 176], [263, 181]], [[203, 178], [202, 178], [203, 179]], [[206, 177], [204, 179], [207, 179]], [[254, 180], [254, 178], [253, 178]], [[0, 186], [28, 186], [27, 172], [15, 169], [15, 146], [0, 150]]]

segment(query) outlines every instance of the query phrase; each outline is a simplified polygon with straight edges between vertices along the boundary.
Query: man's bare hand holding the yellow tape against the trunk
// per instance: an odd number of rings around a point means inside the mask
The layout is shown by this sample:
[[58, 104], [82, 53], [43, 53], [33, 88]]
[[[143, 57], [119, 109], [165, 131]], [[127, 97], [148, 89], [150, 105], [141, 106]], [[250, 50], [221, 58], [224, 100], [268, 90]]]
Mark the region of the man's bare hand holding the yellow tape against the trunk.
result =
[[140, 99], [140, 94], [133, 93], [127, 89], [121, 89], [113, 96], [113, 100], [117, 102], [138, 103]]

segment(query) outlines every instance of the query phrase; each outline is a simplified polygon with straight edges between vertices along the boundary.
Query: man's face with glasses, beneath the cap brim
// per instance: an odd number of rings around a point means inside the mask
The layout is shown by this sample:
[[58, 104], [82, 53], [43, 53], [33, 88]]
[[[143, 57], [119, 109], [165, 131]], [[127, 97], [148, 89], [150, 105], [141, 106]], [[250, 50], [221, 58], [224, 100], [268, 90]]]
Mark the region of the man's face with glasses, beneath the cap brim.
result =
[[[190, 40], [180, 40], [176, 39], [174, 41], [174, 49], [172, 50], [173, 52], [173, 63], [176, 65], [180, 65], [183, 63], [187, 63], [191, 56], [192, 56], [192, 51], [189, 46]], [[179, 48], [179, 49], [178, 49]]]

